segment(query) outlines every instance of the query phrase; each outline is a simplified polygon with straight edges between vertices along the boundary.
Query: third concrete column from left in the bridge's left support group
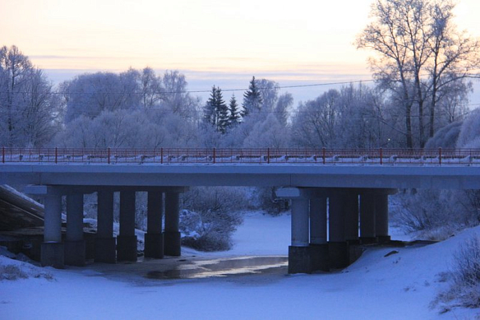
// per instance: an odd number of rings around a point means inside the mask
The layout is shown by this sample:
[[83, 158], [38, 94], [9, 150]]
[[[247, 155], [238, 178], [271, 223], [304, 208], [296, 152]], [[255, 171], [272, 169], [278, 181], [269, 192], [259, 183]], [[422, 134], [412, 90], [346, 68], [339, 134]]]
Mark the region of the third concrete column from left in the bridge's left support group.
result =
[[113, 237], [113, 191], [97, 192], [95, 262], [115, 263], [117, 241]]

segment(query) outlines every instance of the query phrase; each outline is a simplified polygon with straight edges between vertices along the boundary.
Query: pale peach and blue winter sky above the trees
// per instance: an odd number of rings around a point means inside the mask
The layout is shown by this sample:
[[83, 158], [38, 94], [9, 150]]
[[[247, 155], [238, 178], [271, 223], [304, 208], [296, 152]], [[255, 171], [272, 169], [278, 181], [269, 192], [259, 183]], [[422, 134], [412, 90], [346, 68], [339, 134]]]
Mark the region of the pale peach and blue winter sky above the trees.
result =
[[[353, 43], [371, 3], [0, 0], [0, 45], [18, 46], [55, 83], [146, 66], [180, 70], [190, 90], [246, 88], [252, 75], [281, 86], [368, 80], [372, 52]], [[459, 0], [459, 29], [480, 37], [479, 12], [480, 1]], [[288, 91], [298, 101], [323, 88]]]

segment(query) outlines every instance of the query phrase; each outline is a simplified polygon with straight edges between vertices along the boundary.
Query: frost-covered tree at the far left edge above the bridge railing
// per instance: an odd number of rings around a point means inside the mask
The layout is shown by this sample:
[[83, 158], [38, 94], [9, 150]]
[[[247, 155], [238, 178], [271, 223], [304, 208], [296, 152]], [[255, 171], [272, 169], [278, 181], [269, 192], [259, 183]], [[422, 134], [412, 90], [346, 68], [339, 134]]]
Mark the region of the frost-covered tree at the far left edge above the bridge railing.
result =
[[58, 128], [59, 99], [17, 46], [0, 48], [0, 143], [41, 147]]

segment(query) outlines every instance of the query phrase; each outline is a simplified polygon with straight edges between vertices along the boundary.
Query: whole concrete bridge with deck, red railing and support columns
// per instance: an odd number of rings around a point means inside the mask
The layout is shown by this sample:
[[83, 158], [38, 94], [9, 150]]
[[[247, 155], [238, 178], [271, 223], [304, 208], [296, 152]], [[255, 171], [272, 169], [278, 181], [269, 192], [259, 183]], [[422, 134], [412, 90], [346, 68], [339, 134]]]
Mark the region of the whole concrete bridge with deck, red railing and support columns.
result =
[[2, 148], [0, 183], [45, 197], [41, 263], [56, 268], [85, 263], [83, 194], [98, 197], [94, 261], [114, 263], [137, 260], [137, 191], [148, 192], [145, 256], [161, 259], [181, 254], [179, 194], [188, 187], [276, 187], [292, 201], [289, 272], [310, 273], [348, 266], [359, 243], [388, 241], [388, 195], [397, 188], [480, 189], [480, 150]]

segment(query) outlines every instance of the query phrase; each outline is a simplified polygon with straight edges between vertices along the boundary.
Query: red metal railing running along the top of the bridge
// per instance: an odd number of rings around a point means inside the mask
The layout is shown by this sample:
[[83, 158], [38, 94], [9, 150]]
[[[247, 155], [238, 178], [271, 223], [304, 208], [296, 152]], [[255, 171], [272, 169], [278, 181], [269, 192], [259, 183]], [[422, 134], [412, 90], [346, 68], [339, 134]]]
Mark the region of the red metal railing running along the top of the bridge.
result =
[[1, 163], [318, 163], [480, 165], [480, 149], [6, 148]]

